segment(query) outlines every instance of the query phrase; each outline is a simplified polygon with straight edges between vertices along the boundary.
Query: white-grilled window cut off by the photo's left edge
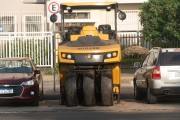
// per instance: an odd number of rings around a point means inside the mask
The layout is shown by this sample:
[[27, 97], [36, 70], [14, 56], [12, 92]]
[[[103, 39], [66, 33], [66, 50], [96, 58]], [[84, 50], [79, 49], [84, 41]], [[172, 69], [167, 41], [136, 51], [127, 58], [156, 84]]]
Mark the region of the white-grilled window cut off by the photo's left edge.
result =
[[0, 32], [15, 32], [16, 17], [14, 15], [5, 15], [0, 13]]

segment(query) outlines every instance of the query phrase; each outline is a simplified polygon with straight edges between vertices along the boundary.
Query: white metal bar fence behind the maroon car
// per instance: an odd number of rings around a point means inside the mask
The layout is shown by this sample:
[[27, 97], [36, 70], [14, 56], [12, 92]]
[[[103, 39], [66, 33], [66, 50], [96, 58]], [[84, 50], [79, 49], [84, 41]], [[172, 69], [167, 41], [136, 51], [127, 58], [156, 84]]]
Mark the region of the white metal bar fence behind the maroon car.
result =
[[53, 66], [51, 32], [0, 33], [0, 58], [30, 57], [38, 67]]

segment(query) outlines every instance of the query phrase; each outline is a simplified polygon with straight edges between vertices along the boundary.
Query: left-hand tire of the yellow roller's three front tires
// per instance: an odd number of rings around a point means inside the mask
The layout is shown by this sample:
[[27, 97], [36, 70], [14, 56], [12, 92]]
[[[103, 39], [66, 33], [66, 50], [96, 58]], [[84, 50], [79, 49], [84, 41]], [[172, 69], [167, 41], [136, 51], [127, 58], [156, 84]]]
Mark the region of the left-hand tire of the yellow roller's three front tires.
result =
[[68, 107], [77, 106], [77, 87], [76, 87], [77, 75], [75, 73], [69, 73], [65, 80], [65, 96], [66, 104]]

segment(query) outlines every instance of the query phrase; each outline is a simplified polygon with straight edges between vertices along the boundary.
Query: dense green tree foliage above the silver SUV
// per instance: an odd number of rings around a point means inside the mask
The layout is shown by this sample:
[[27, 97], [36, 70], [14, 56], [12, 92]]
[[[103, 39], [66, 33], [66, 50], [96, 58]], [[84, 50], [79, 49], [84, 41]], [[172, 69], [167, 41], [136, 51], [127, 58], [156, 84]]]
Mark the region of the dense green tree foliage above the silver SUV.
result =
[[180, 0], [149, 0], [140, 18], [145, 40], [154, 45], [180, 40]]

